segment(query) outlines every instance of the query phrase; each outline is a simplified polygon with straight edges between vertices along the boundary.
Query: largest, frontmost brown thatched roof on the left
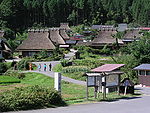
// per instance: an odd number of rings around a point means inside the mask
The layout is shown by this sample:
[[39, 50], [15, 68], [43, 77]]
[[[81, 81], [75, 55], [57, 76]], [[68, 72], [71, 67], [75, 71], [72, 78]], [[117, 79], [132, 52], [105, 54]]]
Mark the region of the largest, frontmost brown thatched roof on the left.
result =
[[52, 50], [55, 49], [54, 44], [49, 38], [49, 30], [29, 30], [28, 38], [17, 47], [18, 51], [39, 51], [39, 50]]

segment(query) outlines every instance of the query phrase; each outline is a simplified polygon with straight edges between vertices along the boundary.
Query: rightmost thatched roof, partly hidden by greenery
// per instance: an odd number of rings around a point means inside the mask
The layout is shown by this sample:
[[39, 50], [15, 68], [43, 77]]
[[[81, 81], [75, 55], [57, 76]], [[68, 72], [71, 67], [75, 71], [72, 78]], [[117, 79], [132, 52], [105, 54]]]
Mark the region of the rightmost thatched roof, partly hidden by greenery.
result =
[[138, 29], [133, 29], [133, 30], [126, 31], [126, 34], [124, 35], [124, 38], [134, 39], [134, 38], [139, 38], [140, 36], [141, 35], [139, 34], [139, 30]]

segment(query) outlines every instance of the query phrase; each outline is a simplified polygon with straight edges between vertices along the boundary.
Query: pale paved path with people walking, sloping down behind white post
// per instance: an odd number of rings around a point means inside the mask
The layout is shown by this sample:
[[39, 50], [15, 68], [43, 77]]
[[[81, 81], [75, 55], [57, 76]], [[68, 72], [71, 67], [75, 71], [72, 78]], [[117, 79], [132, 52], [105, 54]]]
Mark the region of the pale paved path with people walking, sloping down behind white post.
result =
[[[52, 65], [52, 68], [56, 65], [56, 64], [59, 64], [60, 62], [59, 61], [51, 61], [51, 62], [32, 62], [33, 64], [35, 65], [39, 65], [41, 64], [41, 71], [27, 71], [27, 72], [38, 72], [38, 73], [42, 73], [42, 74], [45, 74], [47, 76], [50, 76], [50, 77], [54, 77], [54, 72], [53, 71], [49, 71], [49, 64], [51, 63]], [[47, 65], [47, 71], [44, 71], [44, 64]], [[79, 84], [79, 85], [86, 85], [86, 83], [84, 81], [80, 81], [80, 80], [74, 80], [74, 79], [71, 79], [69, 77], [65, 77], [65, 76], [62, 76], [62, 80], [64, 81], [67, 81], [67, 82], [71, 82], [71, 83], [74, 83], [74, 84]]]

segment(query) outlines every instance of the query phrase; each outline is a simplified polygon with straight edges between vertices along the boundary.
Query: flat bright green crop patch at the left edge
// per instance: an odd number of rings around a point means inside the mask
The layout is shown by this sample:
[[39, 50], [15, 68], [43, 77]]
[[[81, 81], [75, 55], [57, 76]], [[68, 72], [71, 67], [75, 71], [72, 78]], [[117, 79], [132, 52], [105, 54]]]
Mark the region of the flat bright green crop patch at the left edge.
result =
[[19, 83], [20, 80], [18, 78], [12, 76], [0, 76], [0, 84], [8, 84], [8, 83]]

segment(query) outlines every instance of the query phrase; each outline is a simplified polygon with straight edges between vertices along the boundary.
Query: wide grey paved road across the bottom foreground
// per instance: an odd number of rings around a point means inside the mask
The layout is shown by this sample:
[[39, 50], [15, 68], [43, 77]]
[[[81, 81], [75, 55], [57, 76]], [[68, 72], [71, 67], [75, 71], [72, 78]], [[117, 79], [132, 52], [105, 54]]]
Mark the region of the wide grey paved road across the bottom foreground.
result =
[[144, 95], [136, 98], [120, 99], [114, 102], [71, 105], [68, 107], [19, 111], [16, 113], [150, 113], [150, 88], [139, 88], [139, 91], [144, 93]]

